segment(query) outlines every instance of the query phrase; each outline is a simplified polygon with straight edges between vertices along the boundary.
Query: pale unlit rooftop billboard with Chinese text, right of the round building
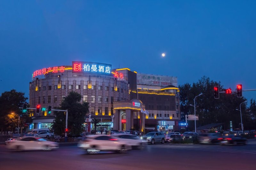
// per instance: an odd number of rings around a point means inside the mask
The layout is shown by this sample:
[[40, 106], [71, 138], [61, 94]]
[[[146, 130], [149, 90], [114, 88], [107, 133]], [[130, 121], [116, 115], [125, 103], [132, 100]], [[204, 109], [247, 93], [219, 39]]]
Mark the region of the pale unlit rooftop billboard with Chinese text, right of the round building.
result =
[[137, 84], [178, 87], [177, 77], [154, 74], [137, 74]]

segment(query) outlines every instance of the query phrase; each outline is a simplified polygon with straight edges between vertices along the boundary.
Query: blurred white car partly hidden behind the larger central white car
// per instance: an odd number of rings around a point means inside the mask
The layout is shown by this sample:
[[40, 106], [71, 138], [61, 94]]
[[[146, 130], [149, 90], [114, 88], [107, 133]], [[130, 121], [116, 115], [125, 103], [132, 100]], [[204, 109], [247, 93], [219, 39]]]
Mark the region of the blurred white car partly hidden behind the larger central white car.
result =
[[145, 145], [145, 140], [140, 139], [140, 137], [136, 135], [131, 135], [131, 134], [118, 134], [114, 135], [118, 140], [126, 143], [126, 145], [131, 146], [132, 148], [139, 148], [142, 149]]

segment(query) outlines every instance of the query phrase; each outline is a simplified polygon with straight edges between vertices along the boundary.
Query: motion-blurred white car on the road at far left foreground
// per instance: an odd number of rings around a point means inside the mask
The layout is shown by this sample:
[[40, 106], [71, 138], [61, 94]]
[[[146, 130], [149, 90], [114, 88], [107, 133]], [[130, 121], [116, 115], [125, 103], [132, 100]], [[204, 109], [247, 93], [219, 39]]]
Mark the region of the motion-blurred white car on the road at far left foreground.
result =
[[8, 149], [15, 149], [16, 151], [23, 150], [52, 150], [59, 148], [59, 144], [56, 142], [47, 141], [38, 137], [20, 137], [15, 140], [11, 140]]

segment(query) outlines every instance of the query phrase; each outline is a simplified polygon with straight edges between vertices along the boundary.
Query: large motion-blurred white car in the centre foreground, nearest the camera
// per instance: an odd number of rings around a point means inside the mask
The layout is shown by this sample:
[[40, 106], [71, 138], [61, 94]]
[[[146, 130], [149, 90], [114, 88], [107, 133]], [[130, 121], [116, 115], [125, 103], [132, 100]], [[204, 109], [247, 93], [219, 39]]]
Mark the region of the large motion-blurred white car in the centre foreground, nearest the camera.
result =
[[126, 143], [111, 135], [93, 135], [82, 139], [78, 145], [89, 154], [99, 153], [100, 151], [127, 152], [131, 149]]

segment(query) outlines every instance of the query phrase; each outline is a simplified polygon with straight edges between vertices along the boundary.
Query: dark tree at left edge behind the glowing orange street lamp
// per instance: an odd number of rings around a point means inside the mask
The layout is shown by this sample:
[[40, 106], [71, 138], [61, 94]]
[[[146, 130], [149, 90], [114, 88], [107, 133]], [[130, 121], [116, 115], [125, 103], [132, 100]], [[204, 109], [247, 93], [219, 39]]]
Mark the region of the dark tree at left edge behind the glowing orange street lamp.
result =
[[[5, 91], [0, 96], [0, 128], [2, 130], [8, 130], [13, 126], [10, 122], [11, 120], [16, 121], [8, 116], [10, 113], [13, 112], [18, 115], [24, 115], [21, 109], [19, 109], [19, 107], [22, 107], [23, 103], [28, 104], [26, 102], [28, 98], [24, 97], [24, 95], [24, 93], [12, 89], [11, 91]], [[18, 119], [16, 122], [18, 124]]]

